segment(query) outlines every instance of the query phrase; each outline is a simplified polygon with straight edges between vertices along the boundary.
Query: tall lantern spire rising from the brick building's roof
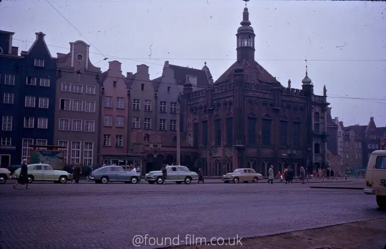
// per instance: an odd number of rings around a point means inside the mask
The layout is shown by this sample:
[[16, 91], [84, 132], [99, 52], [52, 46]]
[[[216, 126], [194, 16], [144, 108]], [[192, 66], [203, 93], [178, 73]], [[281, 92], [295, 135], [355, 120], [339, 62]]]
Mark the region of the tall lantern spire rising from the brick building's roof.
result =
[[255, 33], [250, 26], [249, 12], [247, 8], [247, 2], [249, 0], [243, 0], [245, 2], [245, 8], [243, 11], [243, 20], [240, 22], [241, 27], [237, 29], [237, 60], [255, 60]]

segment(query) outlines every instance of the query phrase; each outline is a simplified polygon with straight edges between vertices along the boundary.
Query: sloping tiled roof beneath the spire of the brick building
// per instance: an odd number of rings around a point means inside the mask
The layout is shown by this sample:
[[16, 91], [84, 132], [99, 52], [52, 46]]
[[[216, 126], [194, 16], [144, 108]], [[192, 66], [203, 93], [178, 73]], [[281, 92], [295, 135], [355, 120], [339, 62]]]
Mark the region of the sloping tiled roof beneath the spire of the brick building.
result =
[[[259, 81], [265, 83], [276, 83], [277, 80], [267, 70], [265, 70], [256, 61], [242, 61], [240, 65], [244, 68], [244, 77], [247, 82], [257, 83]], [[233, 75], [235, 68], [239, 66], [239, 62], [236, 61], [226, 70], [215, 82], [215, 85], [222, 82], [233, 81]]]

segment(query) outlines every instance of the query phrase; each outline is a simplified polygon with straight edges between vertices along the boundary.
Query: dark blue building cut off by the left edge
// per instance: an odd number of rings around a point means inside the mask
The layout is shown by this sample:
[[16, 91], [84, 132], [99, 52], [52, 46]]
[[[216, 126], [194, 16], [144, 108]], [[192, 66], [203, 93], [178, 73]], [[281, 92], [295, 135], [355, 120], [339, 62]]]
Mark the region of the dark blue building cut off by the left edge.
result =
[[14, 33], [0, 30], [0, 166], [10, 167], [20, 157], [16, 157], [18, 148], [18, 112], [19, 89], [21, 81], [22, 56], [18, 48], [12, 46]]

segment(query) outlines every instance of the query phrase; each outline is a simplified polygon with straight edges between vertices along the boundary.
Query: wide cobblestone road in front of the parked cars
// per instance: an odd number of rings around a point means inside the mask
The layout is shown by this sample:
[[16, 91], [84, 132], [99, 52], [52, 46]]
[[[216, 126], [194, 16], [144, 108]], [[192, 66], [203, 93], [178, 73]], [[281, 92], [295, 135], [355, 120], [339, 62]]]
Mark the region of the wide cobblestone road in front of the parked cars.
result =
[[[246, 237], [386, 217], [360, 190], [293, 184], [0, 185], [0, 248], [135, 248], [135, 235]], [[176, 240], [174, 240], [175, 242]], [[170, 241], [167, 241], [168, 243]]]

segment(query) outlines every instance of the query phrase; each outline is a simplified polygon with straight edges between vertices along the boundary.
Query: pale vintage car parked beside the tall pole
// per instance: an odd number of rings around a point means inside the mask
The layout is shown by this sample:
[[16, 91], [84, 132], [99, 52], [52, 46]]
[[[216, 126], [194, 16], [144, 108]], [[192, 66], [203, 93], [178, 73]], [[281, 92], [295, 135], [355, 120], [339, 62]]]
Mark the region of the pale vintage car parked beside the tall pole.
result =
[[[185, 166], [181, 165], [167, 165], [167, 178], [165, 182], [175, 182], [176, 184], [190, 184], [191, 180], [198, 180], [199, 176], [196, 172], [189, 171]], [[151, 171], [146, 174], [146, 181], [149, 184], [163, 184], [162, 171]]]

